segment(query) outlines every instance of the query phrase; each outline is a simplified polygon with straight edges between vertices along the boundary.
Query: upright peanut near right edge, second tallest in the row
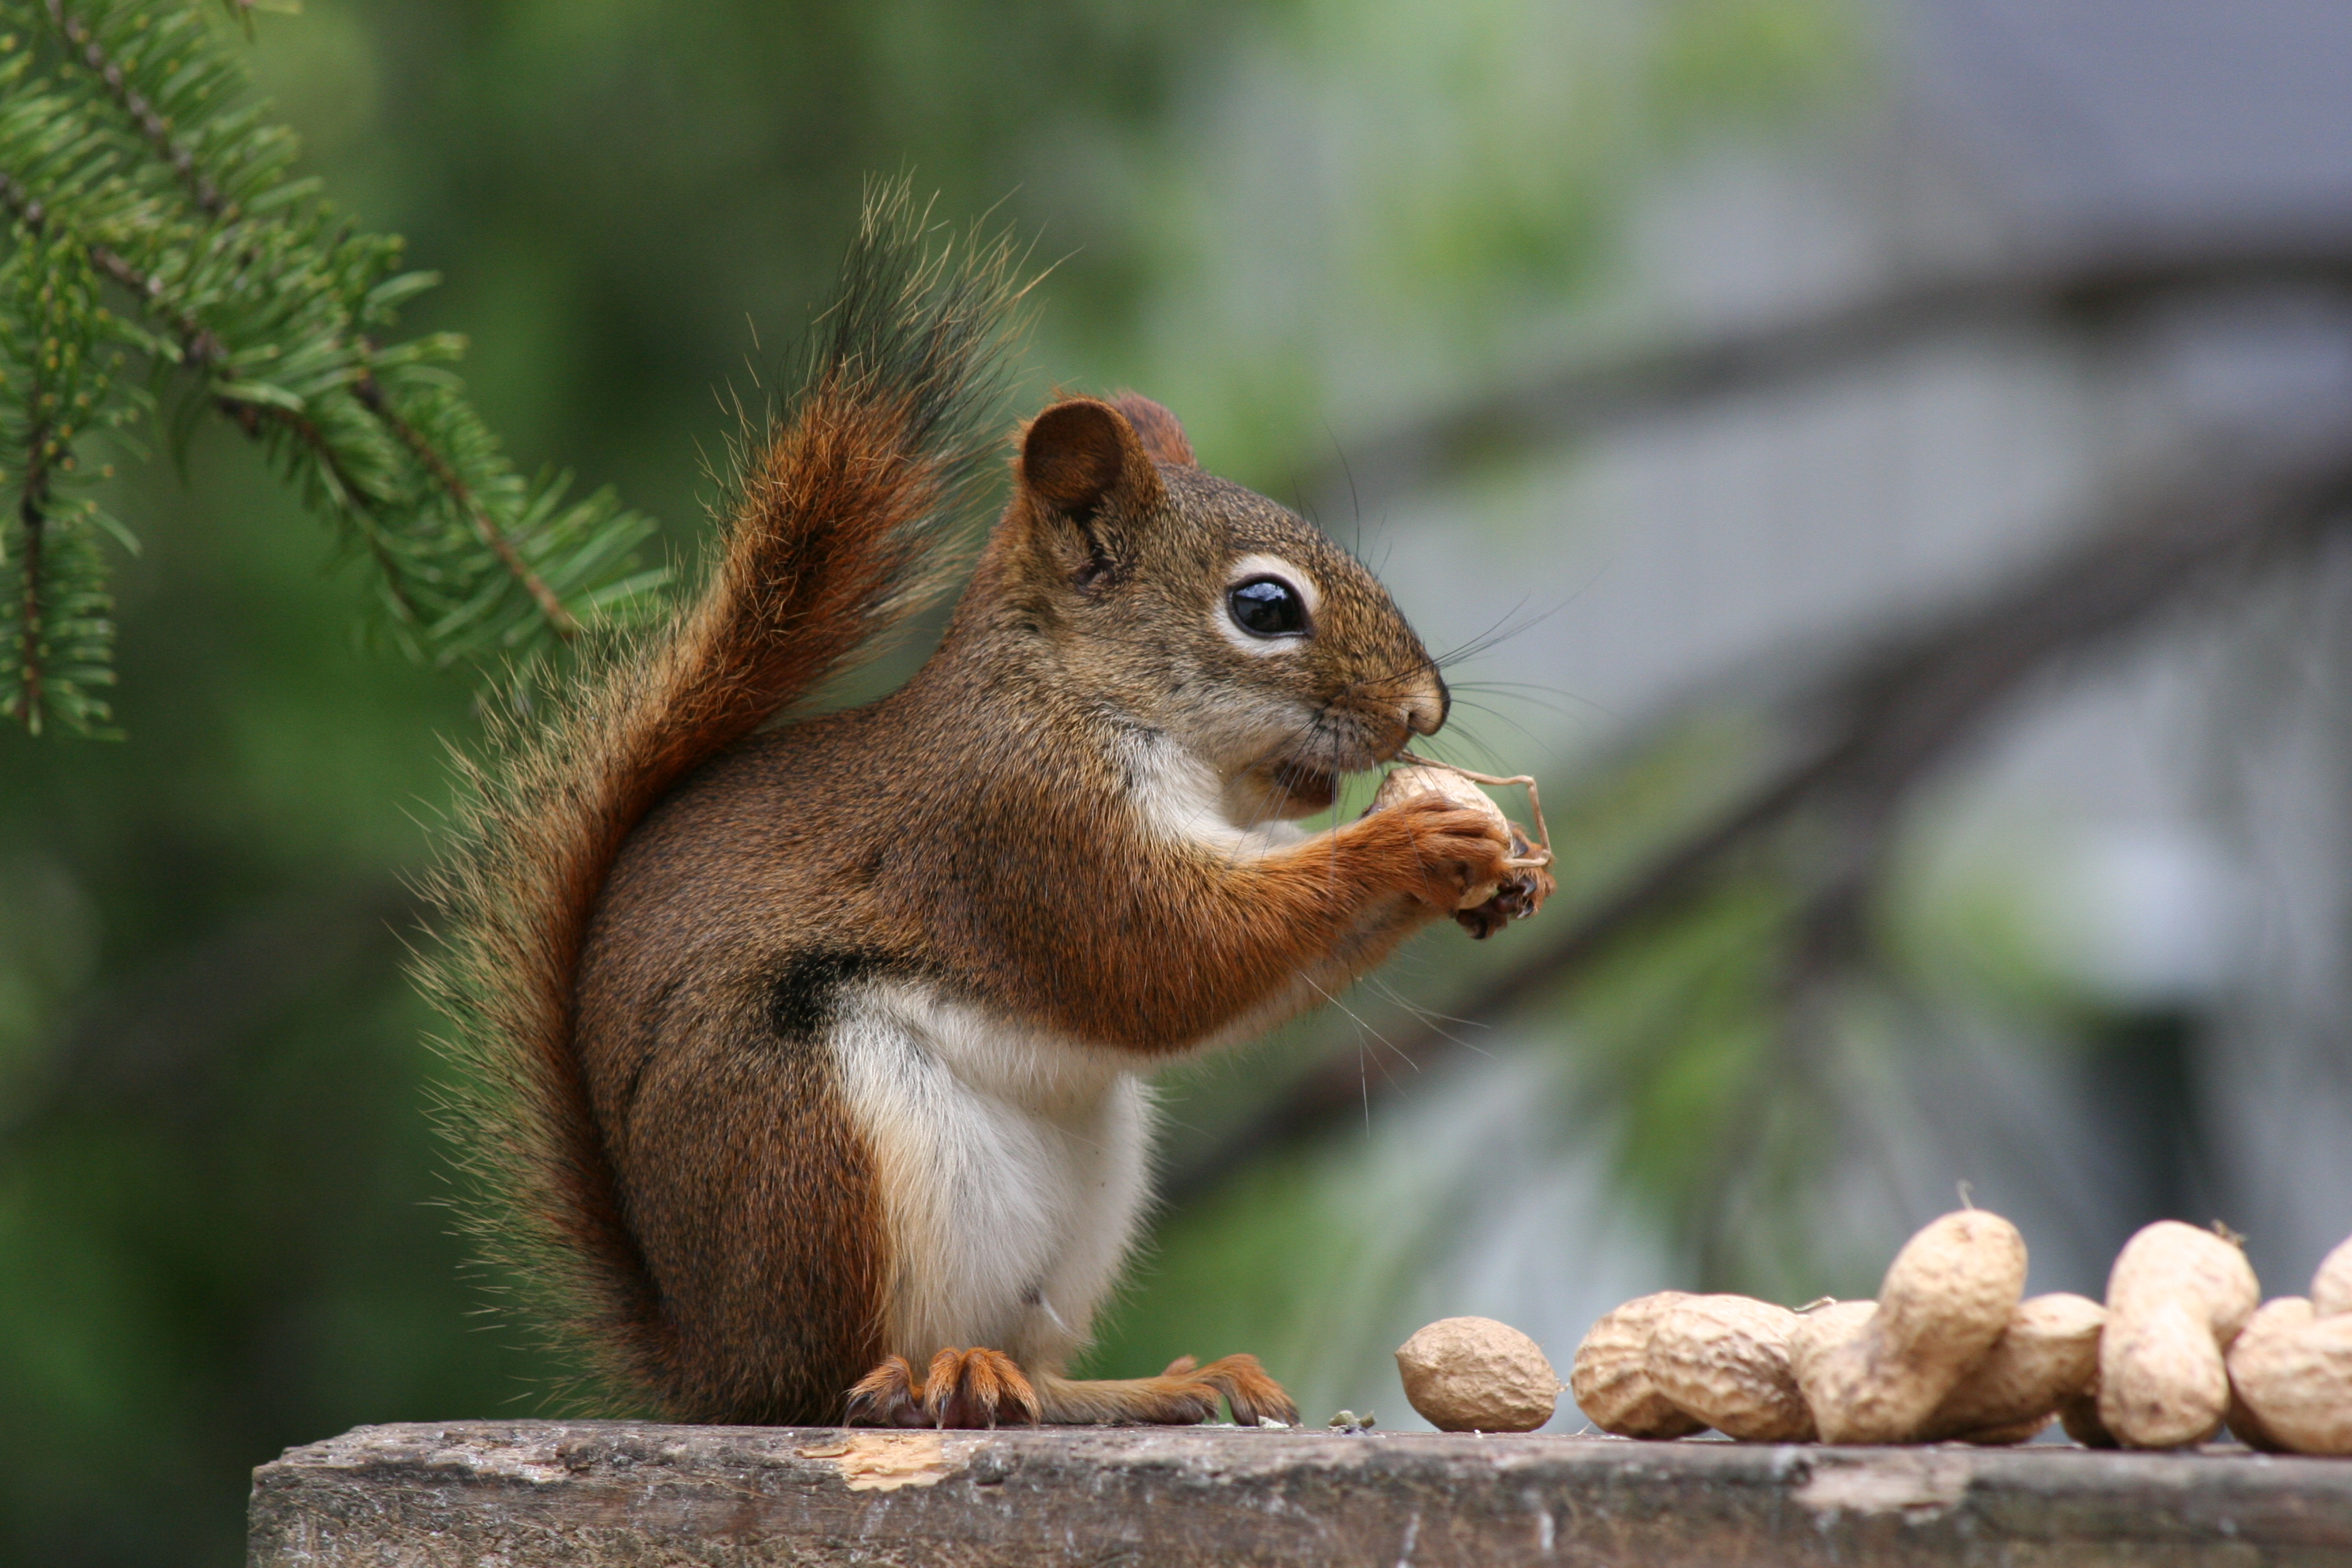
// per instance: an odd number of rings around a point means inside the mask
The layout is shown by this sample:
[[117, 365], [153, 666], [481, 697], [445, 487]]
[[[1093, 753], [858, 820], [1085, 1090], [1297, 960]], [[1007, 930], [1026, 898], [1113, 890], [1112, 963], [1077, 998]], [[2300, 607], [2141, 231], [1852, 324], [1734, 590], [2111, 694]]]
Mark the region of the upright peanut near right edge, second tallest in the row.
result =
[[2098, 1420], [2126, 1448], [2187, 1448], [2230, 1415], [2223, 1352], [2260, 1300], [2246, 1253], [2157, 1220], [2114, 1258], [2098, 1345]]

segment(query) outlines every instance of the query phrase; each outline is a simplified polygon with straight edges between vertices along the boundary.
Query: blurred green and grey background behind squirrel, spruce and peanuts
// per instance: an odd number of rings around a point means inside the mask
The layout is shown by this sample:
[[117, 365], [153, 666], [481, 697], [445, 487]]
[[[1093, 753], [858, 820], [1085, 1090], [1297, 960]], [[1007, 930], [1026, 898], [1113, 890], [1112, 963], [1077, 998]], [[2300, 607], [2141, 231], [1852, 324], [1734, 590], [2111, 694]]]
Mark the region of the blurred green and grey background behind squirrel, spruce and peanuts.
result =
[[[2037, 1291], [2161, 1215], [2270, 1293], [2352, 1232], [2347, 56], [2324, 0], [306, 0], [252, 49], [515, 458], [668, 555], [913, 172], [1054, 263], [1030, 400], [1164, 400], [1454, 656], [1437, 750], [1541, 778], [1559, 898], [1171, 1074], [1094, 1354], [1388, 1427], [1432, 1316], [1564, 1366], [1642, 1291], [1870, 1293], [1962, 1185]], [[226, 425], [120, 484], [129, 738], [0, 733], [0, 1559], [235, 1563], [282, 1446], [553, 1368], [437, 1206], [400, 973], [473, 693], [360, 651]]]

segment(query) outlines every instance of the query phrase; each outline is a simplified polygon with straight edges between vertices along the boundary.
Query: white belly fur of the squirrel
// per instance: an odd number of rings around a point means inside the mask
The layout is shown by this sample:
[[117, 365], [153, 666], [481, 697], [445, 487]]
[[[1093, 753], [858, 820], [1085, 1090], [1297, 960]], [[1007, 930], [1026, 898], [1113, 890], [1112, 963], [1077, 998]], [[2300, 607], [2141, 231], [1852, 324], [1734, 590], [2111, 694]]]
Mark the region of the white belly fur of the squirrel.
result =
[[889, 1225], [889, 1349], [1063, 1366], [1145, 1199], [1150, 1091], [1127, 1053], [915, 983], [840, 999], [828, 1046]]

